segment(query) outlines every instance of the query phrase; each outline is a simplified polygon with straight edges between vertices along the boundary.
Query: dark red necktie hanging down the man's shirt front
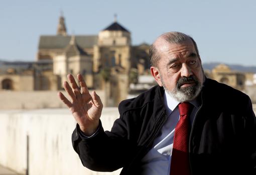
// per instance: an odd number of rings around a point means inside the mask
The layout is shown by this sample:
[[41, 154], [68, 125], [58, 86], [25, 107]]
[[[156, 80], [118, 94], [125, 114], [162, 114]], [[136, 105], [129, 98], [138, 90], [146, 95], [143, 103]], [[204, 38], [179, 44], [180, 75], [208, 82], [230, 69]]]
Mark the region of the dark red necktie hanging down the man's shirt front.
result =
[[171, 160], [171, 175], [189, 175], [189, 112], [191, 110], [191, 104], [189, 102], [180, 103], [180, 120], [175, 127], [172, 160]]

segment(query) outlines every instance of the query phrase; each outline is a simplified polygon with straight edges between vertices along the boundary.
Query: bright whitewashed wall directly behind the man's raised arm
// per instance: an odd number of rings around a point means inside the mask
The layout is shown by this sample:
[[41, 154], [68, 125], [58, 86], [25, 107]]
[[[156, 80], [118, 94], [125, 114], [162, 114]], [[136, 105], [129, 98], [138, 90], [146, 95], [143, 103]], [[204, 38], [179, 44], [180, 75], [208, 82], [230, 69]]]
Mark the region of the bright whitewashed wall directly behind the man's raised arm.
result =
[[[110, 130], [117, 117], [117, 108], [104, 108], [104, 129]], [[71, 143], [75, 125], [68, 109], [0, 111], [0, 164], [25, 174], [29, 135], [30, 175], [119, 174], [83, 167]]]

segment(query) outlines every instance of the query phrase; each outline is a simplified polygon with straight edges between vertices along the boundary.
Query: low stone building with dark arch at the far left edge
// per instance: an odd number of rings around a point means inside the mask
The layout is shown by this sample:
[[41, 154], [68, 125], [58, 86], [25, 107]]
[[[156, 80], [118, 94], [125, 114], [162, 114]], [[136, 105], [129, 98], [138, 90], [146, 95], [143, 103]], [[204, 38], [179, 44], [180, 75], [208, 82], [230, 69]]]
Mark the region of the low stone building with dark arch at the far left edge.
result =
[[60, 79], [53, 74], [52, 61], [0, 62], [0, 89], [13, 91], [58, 90]]

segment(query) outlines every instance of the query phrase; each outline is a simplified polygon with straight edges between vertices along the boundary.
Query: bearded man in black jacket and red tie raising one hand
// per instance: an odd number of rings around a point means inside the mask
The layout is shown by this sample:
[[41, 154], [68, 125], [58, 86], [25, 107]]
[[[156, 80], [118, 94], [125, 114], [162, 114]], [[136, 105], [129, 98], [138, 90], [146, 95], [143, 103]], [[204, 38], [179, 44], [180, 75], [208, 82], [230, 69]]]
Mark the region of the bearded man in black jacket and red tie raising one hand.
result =
[[249, 97], [205, 78], [194, 40], [161, 35], [150, 48], [158, 85], [119, 104], [111, 131], [79, 74], [60, 99], [77, 121], [72, 144], [84, 166], [121, 174], [256, 174], [256, 119]]

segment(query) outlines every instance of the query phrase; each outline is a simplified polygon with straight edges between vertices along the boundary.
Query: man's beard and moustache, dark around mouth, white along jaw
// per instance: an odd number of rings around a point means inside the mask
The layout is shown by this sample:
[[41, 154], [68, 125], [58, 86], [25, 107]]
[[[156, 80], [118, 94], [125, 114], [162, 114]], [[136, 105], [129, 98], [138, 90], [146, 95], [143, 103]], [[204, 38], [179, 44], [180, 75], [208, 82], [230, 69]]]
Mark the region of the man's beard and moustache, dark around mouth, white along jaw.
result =
[[[178, 102], [194, 100], [199, 95], [203, 87], [202, 83], [199, 82], [194, 75], [191, 75], [190, 77], [180, 77], [173, 90], [170, 90], [165, 86], [165, 83], [161, 75], [160, 75], [160, 78], [166, 92], [170, 96], [175, 98]], [[183, 84], [191, 83], [191, 82], [193, 82], [194, 85], [189, 87], [181, 87]]]

